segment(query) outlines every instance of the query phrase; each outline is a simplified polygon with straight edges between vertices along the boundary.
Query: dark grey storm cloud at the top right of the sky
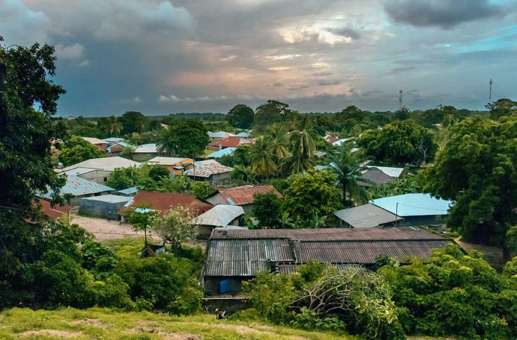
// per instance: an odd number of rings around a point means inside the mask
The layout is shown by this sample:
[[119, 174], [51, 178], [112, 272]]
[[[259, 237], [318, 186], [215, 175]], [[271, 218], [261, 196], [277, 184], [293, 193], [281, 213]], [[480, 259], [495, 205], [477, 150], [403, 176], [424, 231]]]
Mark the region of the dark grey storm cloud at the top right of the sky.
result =
[[451, 28], [503, 15], [502, 9], [490, 0], [385, 0], [384, 9], [394, 21], [417, 27]]

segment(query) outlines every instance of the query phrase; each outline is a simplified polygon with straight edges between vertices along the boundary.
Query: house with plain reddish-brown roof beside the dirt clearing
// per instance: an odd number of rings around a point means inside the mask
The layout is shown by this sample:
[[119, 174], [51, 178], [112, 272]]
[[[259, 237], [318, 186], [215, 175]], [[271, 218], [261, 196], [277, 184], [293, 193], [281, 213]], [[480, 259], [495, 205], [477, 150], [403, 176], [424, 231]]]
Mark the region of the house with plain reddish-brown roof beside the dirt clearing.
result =
[[[214, 205], [197, 198], [194, 195], [173, 194], [168, 192], [139, 191], [129, 202], [120, 208], [118, 213], [122, 221], [125, 221], [124, 214], [127, 211], [155, 210], [164, 215], [168, 210], [178, 206], [186, 206], [192, 209], [196, 217], [207, 212]], [[145, 207], [145, 208], [142, 208]]]

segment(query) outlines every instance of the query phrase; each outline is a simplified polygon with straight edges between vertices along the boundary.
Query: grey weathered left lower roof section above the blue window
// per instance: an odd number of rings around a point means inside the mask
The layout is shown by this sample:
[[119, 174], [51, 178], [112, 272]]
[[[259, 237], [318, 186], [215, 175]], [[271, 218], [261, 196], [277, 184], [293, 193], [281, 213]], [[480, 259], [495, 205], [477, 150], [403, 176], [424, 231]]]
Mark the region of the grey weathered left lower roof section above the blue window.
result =
[[293, 261], [288, 240], [212, 240], [205, 276], [252, 276], [268, 270], [268, 261]]

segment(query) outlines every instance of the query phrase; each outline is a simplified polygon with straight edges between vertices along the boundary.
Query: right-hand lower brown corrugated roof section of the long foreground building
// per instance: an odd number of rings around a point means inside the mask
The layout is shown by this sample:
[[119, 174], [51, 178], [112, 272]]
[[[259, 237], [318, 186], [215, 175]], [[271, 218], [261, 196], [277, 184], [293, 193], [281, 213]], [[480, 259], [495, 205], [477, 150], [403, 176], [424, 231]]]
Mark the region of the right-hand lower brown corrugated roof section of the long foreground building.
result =
[[404, 257], [429, 259], [431, 251], [444, 248], [449, 240], [435, 241], [370, 241], [370, 242], [300, 242], [295, 245], [297, 261], [372, 265], [379, 255], [402, 261]]

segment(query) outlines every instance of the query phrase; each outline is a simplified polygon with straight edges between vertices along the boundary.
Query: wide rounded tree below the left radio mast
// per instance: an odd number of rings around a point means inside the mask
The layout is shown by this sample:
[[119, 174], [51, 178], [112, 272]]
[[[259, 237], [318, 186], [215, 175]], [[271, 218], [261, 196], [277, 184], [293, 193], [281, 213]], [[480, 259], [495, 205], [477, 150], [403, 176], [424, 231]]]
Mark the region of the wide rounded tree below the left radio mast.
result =
[[412, 120], [396, 120], [382, 130], [367, 130], [357, 145], [378, 162], [398, 165], [426, 163], [437, 150], [432, 133]]

